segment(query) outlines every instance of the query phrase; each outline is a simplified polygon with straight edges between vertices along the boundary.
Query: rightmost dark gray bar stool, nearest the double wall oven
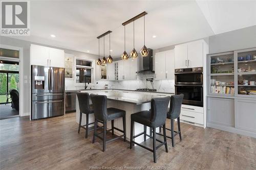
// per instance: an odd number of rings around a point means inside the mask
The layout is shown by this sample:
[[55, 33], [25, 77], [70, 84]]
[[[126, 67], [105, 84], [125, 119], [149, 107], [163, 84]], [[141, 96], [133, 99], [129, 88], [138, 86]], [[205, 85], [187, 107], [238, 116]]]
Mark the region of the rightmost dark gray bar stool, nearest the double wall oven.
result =
[[[167, 129], [170, 131], [170, 136], [166, 136], [170, 139], [172, 139], [172, 145], [173, 147], [175, 146], [174, 144], [174, 137], [179, 134], [180, 136], [180, 141], [182, 140], [181, 138], [181, 131], [180, 131], [180, 111], [181, 111], [181, 105], [183, 101], [184, 94], [177, 94], [177, 95], [172, 95], [170, 98], [170, 109], [169, 112], [167, 113], [167, 118], [170, 119], [170, 129]], [[178, 123], [178, 132], [174, 131], [174, 119], [177, 118], [177, 123]], [[160, 127], [161, 129], [161, 127]], [[161, 131], [160, 131], [161, 132]], [[158, 135], [162, 135], [160, 133], [157, 133]]]

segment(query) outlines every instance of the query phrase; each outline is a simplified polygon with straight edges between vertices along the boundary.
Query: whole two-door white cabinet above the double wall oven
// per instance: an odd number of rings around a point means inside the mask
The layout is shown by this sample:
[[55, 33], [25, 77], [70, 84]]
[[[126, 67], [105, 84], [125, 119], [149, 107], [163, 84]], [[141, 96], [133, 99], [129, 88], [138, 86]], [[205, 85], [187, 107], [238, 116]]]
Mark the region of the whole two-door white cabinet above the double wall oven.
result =
[[175, 68], [202, 67], [206, 57], [204, 49], [208, 44], [204, 40], [175, 45]]

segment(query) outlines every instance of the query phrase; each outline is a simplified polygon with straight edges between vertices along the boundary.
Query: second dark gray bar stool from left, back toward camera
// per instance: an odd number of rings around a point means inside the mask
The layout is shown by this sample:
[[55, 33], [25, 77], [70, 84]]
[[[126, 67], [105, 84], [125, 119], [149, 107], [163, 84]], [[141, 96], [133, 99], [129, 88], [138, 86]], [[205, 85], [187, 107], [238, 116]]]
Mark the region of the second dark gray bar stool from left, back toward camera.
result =
[[[96, 95], [90, 94], [91, 100], [94, 108], [94, 116], [95, 116], [95, 124], [94, 124], [94, 135], [93, 135], [93, 143], [95, 142], [95, 136], [103, 140], [103, 152], [106, 148], [106, 142], [113, 141], [115, 139], [124, 138], [126, 141], [126, 125], [125, 125], [125, 111], [116, 108], [106, 108], [107, 98], [105, 95]], [[114, 119], [122, 117], [123, 118], [123, 130], [114, 127]], [[123, 133], [123, 135], [111, 138], [106, 140], [106, 122], [111, 120], [112, 129], [108, 131], [112, 131], [112, 135], [114, 135], [114, 129]], [[103, 122], [103, 132], [97, 133], [97, 122]], [[103, 137], [99, 136], [99, 134], [103, 133]]]

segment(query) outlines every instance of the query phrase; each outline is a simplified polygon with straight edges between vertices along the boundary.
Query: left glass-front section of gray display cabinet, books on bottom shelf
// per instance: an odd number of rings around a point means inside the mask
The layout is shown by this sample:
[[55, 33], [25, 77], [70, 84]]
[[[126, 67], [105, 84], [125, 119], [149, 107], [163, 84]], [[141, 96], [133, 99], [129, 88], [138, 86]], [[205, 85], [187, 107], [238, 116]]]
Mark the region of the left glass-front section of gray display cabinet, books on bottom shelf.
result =
[[208, 55], [208, 94], [234, 95], [234, 53]]

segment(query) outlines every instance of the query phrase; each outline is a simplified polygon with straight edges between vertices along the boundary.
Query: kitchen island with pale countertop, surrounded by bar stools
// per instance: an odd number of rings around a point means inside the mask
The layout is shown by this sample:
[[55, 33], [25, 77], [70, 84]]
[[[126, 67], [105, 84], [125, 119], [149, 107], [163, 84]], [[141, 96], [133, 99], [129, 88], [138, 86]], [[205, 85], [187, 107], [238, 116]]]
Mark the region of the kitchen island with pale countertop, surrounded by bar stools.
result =
[[[127, 91], [127, 90], [84, 90], [81, 92], [88, 92], [100, 95], [106, 95], [108, 98], [107, 107], [114, 107], [126, 111], [126, 137], [130, 138], [130, 129], [131, 129], [131, 114], [151, 109], [151, 99], [152, 98], [161, 98], [164, 96], [170, 96], [171, 93], [143, 93], [138, 91]], [[77, 99], [76, 99], [77, 100]], [[91, 101], [90, 101], [91, 103]], [[76, 102], [76, 122], [79, 123], [79, 104]], [[82, 116], [82, 125], [86, 122], [86, 116]], [[94, 114], [89, 115], [89, 123], [94, 122]], [[92, 127], [93, 125], [91, 125]], [[123, 129], [122, 118], [115, 119], [114, 126]], [[111, 129], [111, 122], [107, 123], [107, 128]], [[144, 127], [141, 124], [134, 124], [134, 135], [143, 132]], [[158, 130], [157, 130], [158, 131]], [[118, 131], [115, 131], [118, 134]], [[149, 134], [149, 128], [147, 128], [147, 133]], [[118, 134], [120, 135], [120, 134]], [[144, 140], [143, 135], [135, 138], [136, 142], [142, 142]]]

